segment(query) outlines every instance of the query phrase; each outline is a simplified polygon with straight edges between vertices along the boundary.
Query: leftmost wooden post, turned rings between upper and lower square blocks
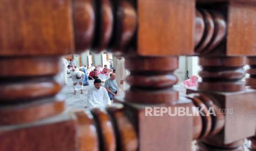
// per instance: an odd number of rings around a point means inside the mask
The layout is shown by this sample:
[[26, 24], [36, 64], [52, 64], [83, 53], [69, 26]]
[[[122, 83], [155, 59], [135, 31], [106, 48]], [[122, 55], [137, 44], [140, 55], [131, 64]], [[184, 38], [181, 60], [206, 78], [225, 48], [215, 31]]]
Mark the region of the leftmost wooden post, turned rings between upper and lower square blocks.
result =
[[[0, 1], [0, 150], [77, 150], [58, 74], [73, 52], [70, 1]], [[15, 144], [15, 145], [14, 145]]]

